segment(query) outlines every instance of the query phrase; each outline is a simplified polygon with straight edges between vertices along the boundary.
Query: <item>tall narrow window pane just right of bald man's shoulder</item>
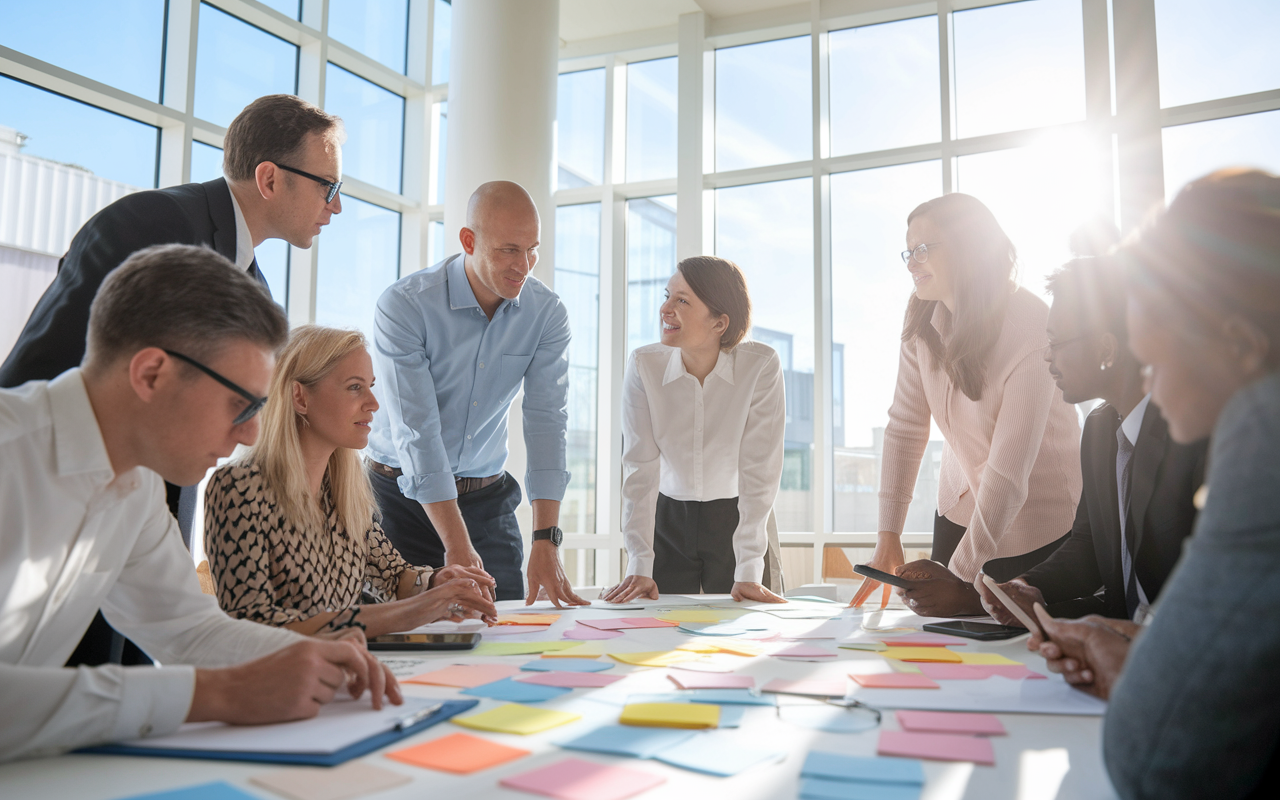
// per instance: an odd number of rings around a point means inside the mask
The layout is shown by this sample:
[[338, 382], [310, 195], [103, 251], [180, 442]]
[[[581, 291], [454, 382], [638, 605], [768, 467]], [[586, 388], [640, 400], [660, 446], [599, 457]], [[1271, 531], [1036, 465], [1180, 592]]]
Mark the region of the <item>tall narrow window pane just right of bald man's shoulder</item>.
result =
[[568, 310], [567, 534], [595, 532], [595, 431], [600, 342], [600, 204], [556, 209], [556, 293]]

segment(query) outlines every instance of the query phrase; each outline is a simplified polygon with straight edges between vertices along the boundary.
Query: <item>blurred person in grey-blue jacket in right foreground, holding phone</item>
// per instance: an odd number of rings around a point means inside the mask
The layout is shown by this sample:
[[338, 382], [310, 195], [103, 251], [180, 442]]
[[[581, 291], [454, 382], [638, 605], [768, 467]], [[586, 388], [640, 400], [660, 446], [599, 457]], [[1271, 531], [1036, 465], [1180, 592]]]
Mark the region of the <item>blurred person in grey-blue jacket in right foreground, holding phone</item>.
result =
[[1108, 698], [1128, 799], [1272, 796], [1280, 781], [1280, 178], [1192, 182], [1120, 250], [1134, 353], [1169, 433], [1212, 433], [1203, 509], [1151, 623], [1055, 621], [1050, 668]]

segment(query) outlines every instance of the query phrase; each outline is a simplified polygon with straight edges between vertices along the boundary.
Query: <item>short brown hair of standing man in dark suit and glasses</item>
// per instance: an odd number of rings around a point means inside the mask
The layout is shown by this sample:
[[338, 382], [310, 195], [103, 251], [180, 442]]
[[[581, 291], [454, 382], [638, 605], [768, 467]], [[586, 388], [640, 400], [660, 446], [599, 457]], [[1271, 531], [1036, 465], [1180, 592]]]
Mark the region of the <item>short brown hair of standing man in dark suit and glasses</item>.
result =
[[228, 180], [252, 180], [262, 161], [296, 160], [308, 133], [346, 137], [342, 118], [293, 95], [266, 95], [236, 115], [223, 138], [223, 174]]

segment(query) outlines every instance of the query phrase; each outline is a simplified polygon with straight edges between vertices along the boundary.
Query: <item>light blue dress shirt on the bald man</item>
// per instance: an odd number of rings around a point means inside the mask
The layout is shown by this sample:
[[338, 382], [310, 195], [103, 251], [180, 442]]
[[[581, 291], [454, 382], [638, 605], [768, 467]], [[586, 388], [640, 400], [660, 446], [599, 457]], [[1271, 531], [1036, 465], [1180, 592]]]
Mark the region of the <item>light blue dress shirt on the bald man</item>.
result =
[[485, 317], [463, 255], [393, 283], [374, 315], [381, 407], [369, 457], [404, 474], [404, 497], [457, 497], [454, 477], [497, 475], [507, 462], [507, 412], [525, 384], [530, 500], [561, 500], [568, 485], [568, 312], [532, 275]]

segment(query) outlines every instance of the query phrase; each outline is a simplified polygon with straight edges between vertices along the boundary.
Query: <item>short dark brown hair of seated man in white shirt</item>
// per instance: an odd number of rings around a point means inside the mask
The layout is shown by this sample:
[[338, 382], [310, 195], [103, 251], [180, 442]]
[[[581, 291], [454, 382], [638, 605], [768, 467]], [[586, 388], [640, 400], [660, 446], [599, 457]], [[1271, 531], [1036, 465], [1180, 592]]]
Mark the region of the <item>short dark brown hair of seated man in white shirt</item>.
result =
[[288, 335], [284, 310], [246, 271], [207, 247], [159, 244], [102, 282], [82, 366], [102, 370], [146, 347], [210, 361], [236, 339], [276, 351]]

